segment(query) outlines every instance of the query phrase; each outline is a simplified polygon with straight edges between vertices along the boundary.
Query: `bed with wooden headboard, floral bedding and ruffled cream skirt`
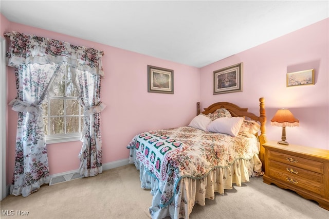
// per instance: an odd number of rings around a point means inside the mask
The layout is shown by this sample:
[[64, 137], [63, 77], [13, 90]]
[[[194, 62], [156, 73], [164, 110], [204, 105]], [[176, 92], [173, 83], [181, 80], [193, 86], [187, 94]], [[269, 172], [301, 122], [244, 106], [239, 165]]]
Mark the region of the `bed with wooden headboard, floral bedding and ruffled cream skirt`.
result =
[[151, 190], [152, 218], [189, 218], [195, 204], [263, 173], [266, 115], [265, 99], [259, 100], [259, 116], [229, 102], [200, 112], [198, 102], [189, 125], [133, 137], [129, 162], [140, 172], [141, 188]]

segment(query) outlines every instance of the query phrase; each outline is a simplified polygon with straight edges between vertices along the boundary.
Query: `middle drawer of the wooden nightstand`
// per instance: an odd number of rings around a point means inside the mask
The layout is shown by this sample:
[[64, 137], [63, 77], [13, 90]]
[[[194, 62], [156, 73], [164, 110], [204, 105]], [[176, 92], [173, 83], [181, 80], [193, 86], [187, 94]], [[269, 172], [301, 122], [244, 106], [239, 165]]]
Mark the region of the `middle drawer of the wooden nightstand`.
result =
[[275, 160], [268, 160], [268, 165], [271, 169], [275, 169], [278, 172], [282, 172], [290, 178], [303, 178], [312, 182], [312, 184], [323, 185], [323, 174], [319, 174], [313, 171], [308, 171], [285, 163], [277, 162]]

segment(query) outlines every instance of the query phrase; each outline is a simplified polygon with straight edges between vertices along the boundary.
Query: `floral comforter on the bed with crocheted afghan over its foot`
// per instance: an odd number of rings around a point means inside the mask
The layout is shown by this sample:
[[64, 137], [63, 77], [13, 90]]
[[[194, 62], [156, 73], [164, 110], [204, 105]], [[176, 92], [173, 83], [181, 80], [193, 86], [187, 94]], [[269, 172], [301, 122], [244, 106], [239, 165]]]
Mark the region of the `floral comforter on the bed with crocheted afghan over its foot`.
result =
[[172, 202], [181, 178], [203, 178], [214, 168], [226, 168], [238, 159], [249, 160], [259, 153], [254, 135], [232, 137], [190, 126], [141, 133], [127, 148], [135, 151], [131, 163], [141, 162], [151, 176], [165, 185], [161, 189], [160, 207]]

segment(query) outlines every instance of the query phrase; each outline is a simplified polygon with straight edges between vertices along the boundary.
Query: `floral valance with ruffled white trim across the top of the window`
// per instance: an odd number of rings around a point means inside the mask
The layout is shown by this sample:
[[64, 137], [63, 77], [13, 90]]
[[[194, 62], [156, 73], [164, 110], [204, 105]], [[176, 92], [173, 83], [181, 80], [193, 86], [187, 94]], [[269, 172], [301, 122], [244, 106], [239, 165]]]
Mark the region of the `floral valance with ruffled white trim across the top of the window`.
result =
[[10, 38], [8, 66], [67, 62], [71, 67], [104, 77], [103, 51], [16, 31], [4, 35]]

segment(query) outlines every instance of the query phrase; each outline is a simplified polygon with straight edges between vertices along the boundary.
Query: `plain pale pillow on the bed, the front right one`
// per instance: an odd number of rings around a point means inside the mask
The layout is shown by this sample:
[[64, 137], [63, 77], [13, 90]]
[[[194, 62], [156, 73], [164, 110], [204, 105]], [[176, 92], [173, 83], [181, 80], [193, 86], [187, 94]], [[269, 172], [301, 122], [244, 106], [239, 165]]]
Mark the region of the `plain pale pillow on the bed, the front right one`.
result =
[[209, 132], [224, 133], [236, 137], [243, 122], [243, 117], [220, 117], [212, 121], [207, 129]]

